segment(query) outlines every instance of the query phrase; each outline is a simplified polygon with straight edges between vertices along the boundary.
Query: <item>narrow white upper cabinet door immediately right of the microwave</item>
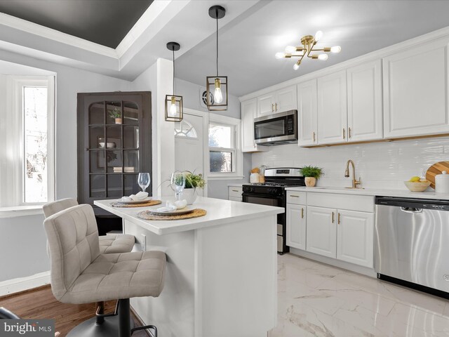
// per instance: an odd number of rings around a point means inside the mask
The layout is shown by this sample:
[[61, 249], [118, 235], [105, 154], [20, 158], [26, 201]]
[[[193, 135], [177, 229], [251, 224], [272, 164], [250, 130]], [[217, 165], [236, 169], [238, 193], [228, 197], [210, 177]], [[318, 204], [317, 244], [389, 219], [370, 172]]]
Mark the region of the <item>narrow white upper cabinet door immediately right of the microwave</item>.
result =
[[318, 144], [318, 113], [316, 111], [316, 79], [297, 86], [298, 145]]

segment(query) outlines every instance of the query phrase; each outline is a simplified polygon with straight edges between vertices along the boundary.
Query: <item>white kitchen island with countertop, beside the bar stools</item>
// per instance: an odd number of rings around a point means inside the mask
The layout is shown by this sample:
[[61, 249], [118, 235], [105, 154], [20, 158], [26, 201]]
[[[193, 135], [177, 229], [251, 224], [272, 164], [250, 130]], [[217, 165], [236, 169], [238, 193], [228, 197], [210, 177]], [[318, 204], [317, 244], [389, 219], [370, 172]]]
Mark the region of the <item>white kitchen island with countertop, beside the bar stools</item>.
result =
[[[159, 198], [163, 202], [166, 198]], [[280, 207], [198, 197], [206, 216], [142, 220], [152, 207], [95, 205], [123, 218], [135, 250], [167, 254], [159, 298], [132, 298], [135, 313], [160, 336], [267, 336], [277, 319], [276, 216]]]

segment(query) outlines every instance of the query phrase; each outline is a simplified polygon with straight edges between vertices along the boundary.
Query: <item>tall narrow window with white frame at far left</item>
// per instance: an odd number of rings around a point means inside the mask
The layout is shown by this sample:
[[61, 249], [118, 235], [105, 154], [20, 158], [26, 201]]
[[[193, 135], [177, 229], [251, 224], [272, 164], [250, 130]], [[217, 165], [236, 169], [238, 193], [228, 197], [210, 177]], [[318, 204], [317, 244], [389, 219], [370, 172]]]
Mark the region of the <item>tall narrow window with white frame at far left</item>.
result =
[[0, 206], [31, 206], [54, 199], [54, 77], [1, 77], [6, 113], [0, 141]]

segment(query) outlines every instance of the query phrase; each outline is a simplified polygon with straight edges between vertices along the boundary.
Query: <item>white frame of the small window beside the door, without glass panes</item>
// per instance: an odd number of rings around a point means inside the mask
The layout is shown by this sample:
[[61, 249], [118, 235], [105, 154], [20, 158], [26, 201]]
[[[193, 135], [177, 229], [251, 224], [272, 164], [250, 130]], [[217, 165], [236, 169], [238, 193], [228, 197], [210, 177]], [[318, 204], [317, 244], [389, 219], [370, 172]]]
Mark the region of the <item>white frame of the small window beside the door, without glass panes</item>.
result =
[[[243, 179], [243, 153], [241, 152], [241, 123], [240, 119], [222, 116], [219, 114], [209, 114], [207, 140], [209, 139], [210, 124], [232, 127], [232, 147], [210, 147], [207, 148], [207, 172], [208, 180], [229, 180]], [[209, 142], [207, 142], [207, 145]], [[232, 172], [210, 172], [210, 152], [232, 152]]]

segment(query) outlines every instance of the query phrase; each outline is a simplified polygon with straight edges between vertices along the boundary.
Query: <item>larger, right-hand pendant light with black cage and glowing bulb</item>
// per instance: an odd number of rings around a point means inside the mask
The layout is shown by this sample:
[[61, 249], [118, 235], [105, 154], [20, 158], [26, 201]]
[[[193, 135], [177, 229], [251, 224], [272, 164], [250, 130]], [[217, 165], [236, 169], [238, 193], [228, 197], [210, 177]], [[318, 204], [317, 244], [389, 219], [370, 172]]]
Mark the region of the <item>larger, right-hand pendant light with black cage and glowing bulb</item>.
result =
[[207, 106], [209, 111], [227, 110], [227, 76], [218, 76], [218, 19], [225, 17], [222, 6], [209, 8], [209, 16], [217, 20], [217, 74], [206, 77]]

